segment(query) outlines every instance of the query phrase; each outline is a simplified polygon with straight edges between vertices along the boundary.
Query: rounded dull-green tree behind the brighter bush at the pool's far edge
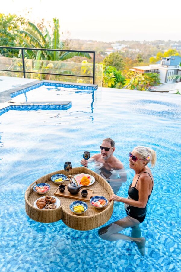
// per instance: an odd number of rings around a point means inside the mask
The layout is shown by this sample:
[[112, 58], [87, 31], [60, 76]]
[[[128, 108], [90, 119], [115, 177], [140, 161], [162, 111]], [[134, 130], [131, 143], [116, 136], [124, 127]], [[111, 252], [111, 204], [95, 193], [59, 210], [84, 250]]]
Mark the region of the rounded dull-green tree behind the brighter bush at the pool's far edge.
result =
[[110, 53], [103, 60], [103, 64], [106, 66], [113, 66], [117, 70], [122, 70], [125, 66], [122, 56], [118, 52]]

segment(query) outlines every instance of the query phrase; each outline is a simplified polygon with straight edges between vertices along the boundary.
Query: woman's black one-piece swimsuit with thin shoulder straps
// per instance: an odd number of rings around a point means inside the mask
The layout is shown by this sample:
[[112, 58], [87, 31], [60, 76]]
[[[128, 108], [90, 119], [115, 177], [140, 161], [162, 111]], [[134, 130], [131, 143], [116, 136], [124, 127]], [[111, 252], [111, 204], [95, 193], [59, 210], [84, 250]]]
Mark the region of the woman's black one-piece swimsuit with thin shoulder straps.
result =
[[[143, 173], [147, 173], [147, 172], [143, 172]], [[141, 174], [143, 174], [143, 173], [141, 173]], [[147, 173], [147, 174], [150, 176], [149, 173]], [[138, 180], [139, 180], [140, 175], [138, 176]], [[136, 184], [137, 184], [138, 180], [136, 181]], [[152, 180], [152, 178], [151, 178], [151, 180]], [[131, 187], [132, 183], [129, 185], [128, 199], [131, 198], [133, 200], [138, 201], [139, 200], [139, 191], [136, 189], [136, 184], [134, 187]], [[152, 184], [153, 184], [153, 180], [152, 180]], [[152, 186], [152, 190], [153, 190], [153, 186]], [[151, 193], [152, 193], [152, 190], [151, 190]], [[148, 200], [149, 200], [150, 196], [151, 196], [151, 194], [148, 196]], [[147, 203], [148, 203], [148, 201], [147, 201]], [[146, 203], [146, 205], [147, 205], [147, 203]], [[133, 207], [133, 206], [125, 204], [125, 210], [126, 210], [127, 215], [137, 219], [140, 223], [144, 221], [145, 216], [146, 216], [146, 207], [145, 208], [138, 208], [138, 207]]]

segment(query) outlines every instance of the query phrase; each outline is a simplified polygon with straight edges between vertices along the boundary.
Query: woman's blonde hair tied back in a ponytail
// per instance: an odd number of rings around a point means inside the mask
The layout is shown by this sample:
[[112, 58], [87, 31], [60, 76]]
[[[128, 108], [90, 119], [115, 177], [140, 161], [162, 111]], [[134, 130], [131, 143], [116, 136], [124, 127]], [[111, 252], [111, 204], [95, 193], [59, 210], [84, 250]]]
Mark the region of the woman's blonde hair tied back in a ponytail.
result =
[[141, 159], [145, 159], [147, 163], [151, 163], [151, 167], [155, 166], [157, 155], [156, 152], [146, 146], [137, 146], [134, 150], [141, 156]]

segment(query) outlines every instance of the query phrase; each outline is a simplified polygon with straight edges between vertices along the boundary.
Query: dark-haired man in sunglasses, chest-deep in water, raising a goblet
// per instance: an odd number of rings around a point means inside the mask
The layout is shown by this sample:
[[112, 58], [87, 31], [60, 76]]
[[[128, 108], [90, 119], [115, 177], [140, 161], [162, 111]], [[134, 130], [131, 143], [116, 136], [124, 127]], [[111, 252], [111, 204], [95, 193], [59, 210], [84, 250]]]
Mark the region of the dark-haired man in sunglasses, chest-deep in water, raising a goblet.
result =
[[81, 164], [87, 166], [88, 162], [93, 162], [94, 171], [110, 183], [116, 194], [122, 182], [126, 182], [127, 175], [122, 162], [113, 156], [114, 151], [114, 141], [106, 138], [100, 146], [100, 153], [93, 155], [89, 160], [82, 159]]

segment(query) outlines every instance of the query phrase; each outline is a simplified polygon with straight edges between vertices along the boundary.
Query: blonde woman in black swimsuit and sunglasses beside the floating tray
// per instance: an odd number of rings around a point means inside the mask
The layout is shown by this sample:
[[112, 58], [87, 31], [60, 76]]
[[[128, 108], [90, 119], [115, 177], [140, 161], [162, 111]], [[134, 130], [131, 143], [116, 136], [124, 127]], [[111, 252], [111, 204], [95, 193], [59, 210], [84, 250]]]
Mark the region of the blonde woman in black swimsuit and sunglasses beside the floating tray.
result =
[[[109, 201], [123, 202], [127, 216], [99, 229], [99, 236], [104, 240], [127, 240], [135, 242], [141, 255], [144, 255], [146, 240], [144, 237], [140, 237], [139, 224], [145, 219], [146, 206], [154, 186], [151, 170], [147, 166], [149, 162], [151, 163], [151, 167], [154, 167], [156, 153], [153, 149], [137, 146], [132, 152], [129, 152], [129, 167], [135, 171], [135, 176], [128, 189], [128, 198], [113, 194], [109, 199]], [[132, 237], [119, 233], [128, 227], [132, 228]]]

